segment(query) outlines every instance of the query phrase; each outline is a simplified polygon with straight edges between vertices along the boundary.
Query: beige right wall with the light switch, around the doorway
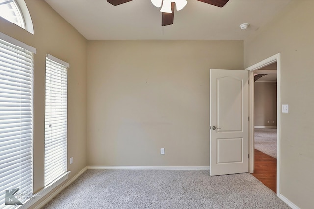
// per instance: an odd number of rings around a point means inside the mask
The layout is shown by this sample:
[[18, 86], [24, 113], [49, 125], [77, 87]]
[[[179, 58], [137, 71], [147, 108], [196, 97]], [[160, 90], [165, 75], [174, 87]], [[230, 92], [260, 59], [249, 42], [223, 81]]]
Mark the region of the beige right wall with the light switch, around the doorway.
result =
[[[244, 42], [245, 67], [280, 52], [280, 194], [314, 206], [314, 1], [293, 1]], [[278, 127], [277, 127], [278, 128]]]

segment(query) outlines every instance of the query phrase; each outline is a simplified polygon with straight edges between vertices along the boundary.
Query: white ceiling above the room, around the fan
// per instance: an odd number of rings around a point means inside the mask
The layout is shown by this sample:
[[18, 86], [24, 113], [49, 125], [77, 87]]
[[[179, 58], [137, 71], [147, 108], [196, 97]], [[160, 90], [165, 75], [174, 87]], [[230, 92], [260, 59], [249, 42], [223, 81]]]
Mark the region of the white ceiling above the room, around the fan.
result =
[[[229, 0], [222, 8], [188, 0], [174, 24], [161, 26], [150, 0], [112, 6], [106, 0], [45, 0], [88, 40], [245, 40], [290, 0]], [[249, 23], [247, 30], [239, 25]]]

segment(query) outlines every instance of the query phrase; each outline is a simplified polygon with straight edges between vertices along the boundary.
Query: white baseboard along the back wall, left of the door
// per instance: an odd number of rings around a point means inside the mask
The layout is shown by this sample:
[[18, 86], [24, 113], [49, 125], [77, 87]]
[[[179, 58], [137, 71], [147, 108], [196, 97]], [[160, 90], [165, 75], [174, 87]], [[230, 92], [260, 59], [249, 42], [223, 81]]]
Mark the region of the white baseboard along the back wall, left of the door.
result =
[[87, 166], [88, 170], [209, 170], [209, 166]]

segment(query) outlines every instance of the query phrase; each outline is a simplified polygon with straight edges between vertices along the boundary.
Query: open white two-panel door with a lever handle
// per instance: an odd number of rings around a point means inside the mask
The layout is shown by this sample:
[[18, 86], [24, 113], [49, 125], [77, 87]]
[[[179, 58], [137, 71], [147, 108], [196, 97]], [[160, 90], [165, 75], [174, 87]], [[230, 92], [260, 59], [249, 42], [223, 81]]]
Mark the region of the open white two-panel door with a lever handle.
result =
[[249, 170], [248, 71], [210, 69], [210, 175]]

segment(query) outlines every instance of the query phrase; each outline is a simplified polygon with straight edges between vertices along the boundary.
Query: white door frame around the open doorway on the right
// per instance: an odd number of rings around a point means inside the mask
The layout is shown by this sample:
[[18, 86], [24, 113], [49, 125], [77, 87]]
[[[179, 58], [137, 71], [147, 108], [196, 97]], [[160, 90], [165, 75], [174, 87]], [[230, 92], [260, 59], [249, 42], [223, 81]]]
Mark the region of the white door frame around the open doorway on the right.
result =
[[276, 186], [277, 196], [279, 195], [279, 173], [280, 173], [280, 53], [268, 57], [261, 62], [258, 62], [245, 70], [249, 71], [249, 172], [254, 172], [254, 70], [258, 70], [262, 67], [277, 62], [277, 174], [276, 174]]

